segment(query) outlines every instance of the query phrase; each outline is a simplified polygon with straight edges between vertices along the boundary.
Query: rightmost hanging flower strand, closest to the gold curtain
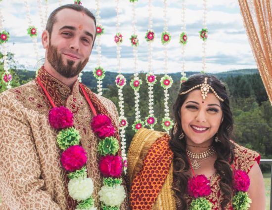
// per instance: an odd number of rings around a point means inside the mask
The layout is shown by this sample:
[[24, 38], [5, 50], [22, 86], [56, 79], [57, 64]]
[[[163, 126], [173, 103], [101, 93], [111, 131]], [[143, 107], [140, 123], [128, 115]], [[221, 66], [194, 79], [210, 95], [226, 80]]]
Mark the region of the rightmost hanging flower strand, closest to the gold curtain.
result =
[[206, 41], [208, 39], [208, 29], [206, 18], [207, 17], [207, 2], [203, 0], [203, 28], [199, 31], [199, 38], [202, 40], [202, 71], [201, 73], [205, 74], [206, 72]]

